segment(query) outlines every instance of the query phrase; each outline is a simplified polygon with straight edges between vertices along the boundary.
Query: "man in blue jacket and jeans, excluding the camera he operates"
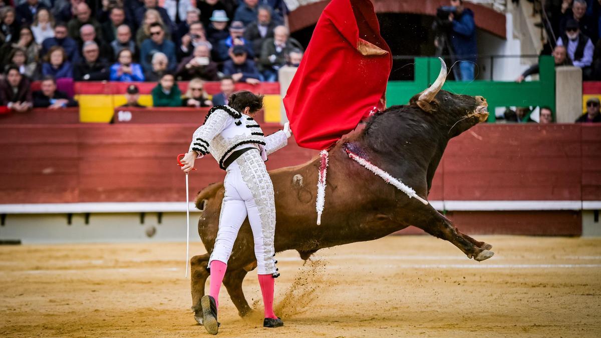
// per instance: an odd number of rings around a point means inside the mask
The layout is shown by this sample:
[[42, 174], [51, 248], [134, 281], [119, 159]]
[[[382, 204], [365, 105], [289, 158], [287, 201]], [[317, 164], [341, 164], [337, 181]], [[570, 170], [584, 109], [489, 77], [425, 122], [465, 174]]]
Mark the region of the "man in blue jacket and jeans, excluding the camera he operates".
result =
[[451, 22], [451, 46], [459, 61], [459, 72], [455, 78], [461, 81], [474, 80], [474, 67], [476, 55], [476, 26], [474, 12], [463, 7], [463, 0], [451, 0], [451, 6], [455, 7], [456, 14], [449, 14]]

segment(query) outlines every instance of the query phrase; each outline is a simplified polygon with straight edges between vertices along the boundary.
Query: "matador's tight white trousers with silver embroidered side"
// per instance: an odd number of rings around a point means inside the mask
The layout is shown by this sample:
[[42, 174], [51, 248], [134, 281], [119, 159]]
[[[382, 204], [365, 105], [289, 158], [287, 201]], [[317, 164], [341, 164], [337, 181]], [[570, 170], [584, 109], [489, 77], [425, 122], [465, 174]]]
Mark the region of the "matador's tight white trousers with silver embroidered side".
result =
[[227, 167], [225, 196], [219, 215], [219, 231], [209, 259], [227, 264], [234, 241], [246, 216], [254, 238], [257, 274], [273, 274], [275, 259], [275, 202], [273, 184], [258, 150], [249, 150]]

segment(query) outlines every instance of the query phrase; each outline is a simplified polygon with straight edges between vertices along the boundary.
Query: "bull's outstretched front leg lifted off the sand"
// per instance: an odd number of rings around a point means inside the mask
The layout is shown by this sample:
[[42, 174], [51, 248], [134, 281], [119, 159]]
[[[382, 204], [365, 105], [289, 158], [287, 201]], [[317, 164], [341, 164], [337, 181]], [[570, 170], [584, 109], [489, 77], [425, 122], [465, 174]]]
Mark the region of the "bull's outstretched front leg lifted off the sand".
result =
[[[453, 243], [459, 250], [463, 251], [468, 258], [474, 258], [480, 262], [493, 256], [493, 252], [485, 248], [478, 247], [472, 241], [465, 238], [448, 218], [441, 215], [432, 206], [421, 208], [424, 212], [420, 214], [421, 220], [414, 224], [419, 229], [424, 230], [430, 235], [445, 239]], [[463, 236], [462, 236], [463, 235]]]

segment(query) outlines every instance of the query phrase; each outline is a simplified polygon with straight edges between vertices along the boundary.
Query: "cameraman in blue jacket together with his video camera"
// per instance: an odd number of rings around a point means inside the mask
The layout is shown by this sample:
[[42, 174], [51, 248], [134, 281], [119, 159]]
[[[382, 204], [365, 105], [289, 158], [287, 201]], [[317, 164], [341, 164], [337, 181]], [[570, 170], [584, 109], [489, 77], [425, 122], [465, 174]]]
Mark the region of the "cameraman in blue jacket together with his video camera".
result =
[[[461, 81], [474, 80], [476, 55], [476, 25], [474, 12], [463, 7], [463, 0], [451, 0], [450, 6], [438, 8], [435, 28], [437, 54], [445, 48], [453, 61], [459, 61], [459, 71], [453, 68], [455, 78]], [[450, 44], [447, 42], [450, 41]]]

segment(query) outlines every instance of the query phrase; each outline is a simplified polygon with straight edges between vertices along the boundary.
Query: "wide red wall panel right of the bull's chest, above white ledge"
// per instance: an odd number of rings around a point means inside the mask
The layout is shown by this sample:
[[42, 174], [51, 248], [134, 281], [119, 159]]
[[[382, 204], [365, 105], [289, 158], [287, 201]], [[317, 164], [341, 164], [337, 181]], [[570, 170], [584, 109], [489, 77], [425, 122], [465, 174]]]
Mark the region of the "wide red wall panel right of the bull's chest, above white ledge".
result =
[[576, 124], [482, 124], [450, 141], [445, 200], [581, 200]]

